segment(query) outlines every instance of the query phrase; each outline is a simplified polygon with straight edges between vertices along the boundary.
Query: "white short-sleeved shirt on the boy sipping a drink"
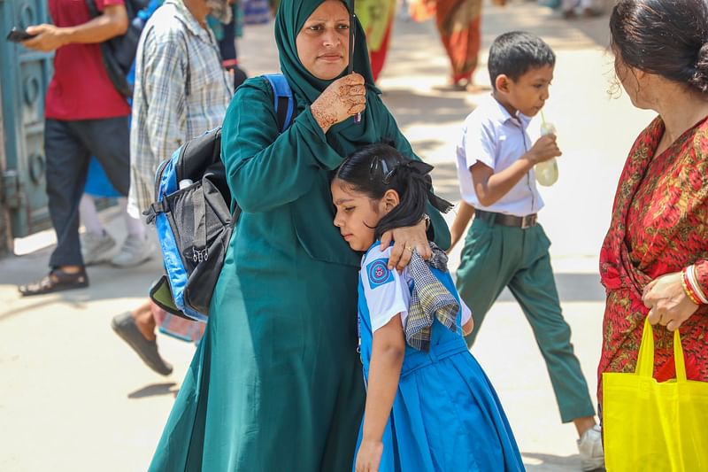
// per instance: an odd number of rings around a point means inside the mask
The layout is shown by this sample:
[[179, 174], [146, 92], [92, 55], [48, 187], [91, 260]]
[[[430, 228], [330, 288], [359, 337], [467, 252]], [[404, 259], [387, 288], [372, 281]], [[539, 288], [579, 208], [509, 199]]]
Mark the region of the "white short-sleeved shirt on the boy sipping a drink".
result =
[[466, 203], [488, 212], [514, 216], [538, 213], [543, 208], [533, 168], [504, 197], [489, 206], [481, 205], [474, 193], [470, 171], [474, 164], [481, 162], [498, 174], [516, 162], [533, 145], [527, 133], [530, 121], [531, 118], [522, 113], [512, 117], [492, 96], [485, 98], [467, 116], [457, 147], [459, 190]]

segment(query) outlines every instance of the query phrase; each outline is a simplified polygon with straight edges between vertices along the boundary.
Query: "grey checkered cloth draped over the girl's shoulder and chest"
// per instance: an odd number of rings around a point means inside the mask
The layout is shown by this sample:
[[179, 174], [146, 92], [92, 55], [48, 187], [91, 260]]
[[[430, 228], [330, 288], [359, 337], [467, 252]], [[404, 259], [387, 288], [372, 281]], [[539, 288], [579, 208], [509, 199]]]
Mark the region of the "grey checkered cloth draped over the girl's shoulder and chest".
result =
[[430, 350], [430, 329], [435, 318], [446, 328], [456, 331], [459, 312], [458, 300], [430, 271], [430, 267], [446, 271], [448, 257], [435, 243], [430, 243], [430, 249], [433, 256], [428, 261], [421, 258], [418, 251], [412, 253], [408, 273], [413, 280], [413, 289], [404, 326], [405, 341], [424, 352]]

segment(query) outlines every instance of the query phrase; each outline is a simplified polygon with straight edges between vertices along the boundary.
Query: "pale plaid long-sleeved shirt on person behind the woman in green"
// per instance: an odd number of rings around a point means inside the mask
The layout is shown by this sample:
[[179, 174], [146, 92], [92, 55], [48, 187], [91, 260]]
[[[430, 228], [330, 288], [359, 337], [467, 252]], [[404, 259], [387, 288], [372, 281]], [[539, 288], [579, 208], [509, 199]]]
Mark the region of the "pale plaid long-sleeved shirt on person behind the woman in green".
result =
[[221, 125], [232, 96], [212, 31], [166, 0], [142, 32], [130, 129], [131, 213], [155, 200], [155, 173], [183, 143]]

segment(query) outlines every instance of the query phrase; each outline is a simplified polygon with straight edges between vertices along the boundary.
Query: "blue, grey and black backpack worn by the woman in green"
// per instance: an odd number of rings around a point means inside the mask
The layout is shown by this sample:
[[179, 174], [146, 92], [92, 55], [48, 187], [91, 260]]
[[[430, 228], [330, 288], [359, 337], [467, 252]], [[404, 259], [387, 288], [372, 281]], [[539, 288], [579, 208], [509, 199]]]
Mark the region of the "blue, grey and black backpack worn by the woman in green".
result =
[[[289, 127], [295, 111], [282, 74], [263, 76], [273, 87], [278, 127]], [[150, 298], [189, 320], [206, 321], [228, 243], [241, 214], [231, 212], [231, 192], [221, 160], [221, 128], [184, 143], [155, 175], [155, 203], [144, 213], [158, 228], [165, 275]]]

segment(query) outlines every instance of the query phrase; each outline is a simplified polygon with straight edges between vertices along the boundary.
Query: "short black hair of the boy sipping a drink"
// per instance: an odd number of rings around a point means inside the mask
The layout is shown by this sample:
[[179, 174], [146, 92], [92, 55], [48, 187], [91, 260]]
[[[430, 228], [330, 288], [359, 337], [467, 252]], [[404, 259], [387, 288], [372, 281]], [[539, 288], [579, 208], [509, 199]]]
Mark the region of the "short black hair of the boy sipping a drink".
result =
[[499, 35], [489, 48], [489, 79], [492, 89], [496, 89], [496, 77], [506, 75], [512, 81], [530, 69], [543, 66], [555, 66], [556, 55], [543, 39], [525, 31], [511, 31]]

